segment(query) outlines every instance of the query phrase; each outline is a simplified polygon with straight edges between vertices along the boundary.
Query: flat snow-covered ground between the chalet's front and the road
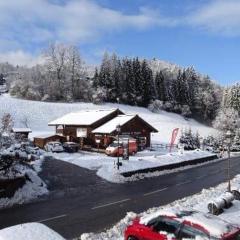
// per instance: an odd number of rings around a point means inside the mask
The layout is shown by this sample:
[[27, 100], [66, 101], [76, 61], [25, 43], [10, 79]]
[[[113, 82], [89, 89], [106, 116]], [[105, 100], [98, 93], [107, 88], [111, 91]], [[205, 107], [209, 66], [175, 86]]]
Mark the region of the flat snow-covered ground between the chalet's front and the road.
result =
[[[51, 155], [56, 159], [66, 161], [80, 167], [97, 170], [98, 176], [110, 182], [125, 182], [139, 179], [140, 176], [124, 178], [121, 173], [209, 157], [214, 154], [201, 150], [173, 153], [144, 151], [137, 153], [135, 156], [130, 156], [129, 160], [121, 160], [122, 166], [120, 166], [119, 170], [116, 168], [117, 158], [108, 157], [105, 154], [79, 152], [53, 153]], [[143, 177], [143, 175], [144, 174], [141, 174], [141, 177]], [[145, 174], [145, 176], [149, 177], [151, 175], [156, 176], [156, 173]]]

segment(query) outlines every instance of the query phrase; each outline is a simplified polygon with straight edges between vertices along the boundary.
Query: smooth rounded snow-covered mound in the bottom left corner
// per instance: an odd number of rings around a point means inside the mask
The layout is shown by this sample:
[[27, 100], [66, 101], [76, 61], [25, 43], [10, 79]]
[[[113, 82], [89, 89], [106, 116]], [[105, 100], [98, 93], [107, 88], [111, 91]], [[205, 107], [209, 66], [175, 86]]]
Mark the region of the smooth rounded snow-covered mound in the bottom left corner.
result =
[[0, 240], [64, 240], [41, 223], [25, 223], [0, 230]]

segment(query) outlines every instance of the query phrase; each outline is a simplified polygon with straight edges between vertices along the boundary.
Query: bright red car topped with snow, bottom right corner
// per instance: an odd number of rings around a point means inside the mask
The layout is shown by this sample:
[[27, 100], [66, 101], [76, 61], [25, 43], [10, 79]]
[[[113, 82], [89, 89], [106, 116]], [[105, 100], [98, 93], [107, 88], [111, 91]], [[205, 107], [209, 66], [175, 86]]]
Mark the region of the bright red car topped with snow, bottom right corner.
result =
[[240, 240], [240, 227], [210, 214], [169, 209], [136, 218], [124, 237], [125, 240]]

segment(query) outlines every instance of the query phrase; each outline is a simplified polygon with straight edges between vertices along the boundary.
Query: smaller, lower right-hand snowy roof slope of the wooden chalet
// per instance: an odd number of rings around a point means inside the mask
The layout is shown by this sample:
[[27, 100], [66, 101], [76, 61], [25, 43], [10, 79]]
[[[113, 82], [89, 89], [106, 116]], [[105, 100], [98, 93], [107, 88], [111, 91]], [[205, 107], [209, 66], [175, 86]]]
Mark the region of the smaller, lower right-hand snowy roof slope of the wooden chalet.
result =
[[106, 122], [102, 126], [94, 129], [93, 133], [112, 133], [118, 125], [122, 126], [132, 120], [136, 115], [118, 115], [112, 120]]

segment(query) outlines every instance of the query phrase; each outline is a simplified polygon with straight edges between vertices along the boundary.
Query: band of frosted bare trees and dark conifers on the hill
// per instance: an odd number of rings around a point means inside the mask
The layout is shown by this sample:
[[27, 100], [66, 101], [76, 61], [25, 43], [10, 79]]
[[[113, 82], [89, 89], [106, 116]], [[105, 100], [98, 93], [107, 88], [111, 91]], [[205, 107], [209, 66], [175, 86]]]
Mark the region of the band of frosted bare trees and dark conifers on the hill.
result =
[[95, 71], [89, 71], [79, 49], [65, 44], [51, 44], [42, 57], [44, 63], [33, 67], [0, 64], [11, 95], [40, 101], [118, 102], [206, 123], [222, 119], [223, 109], [240, 110], [238, 83], [221, 87], [193, 67], [105, 53]]

